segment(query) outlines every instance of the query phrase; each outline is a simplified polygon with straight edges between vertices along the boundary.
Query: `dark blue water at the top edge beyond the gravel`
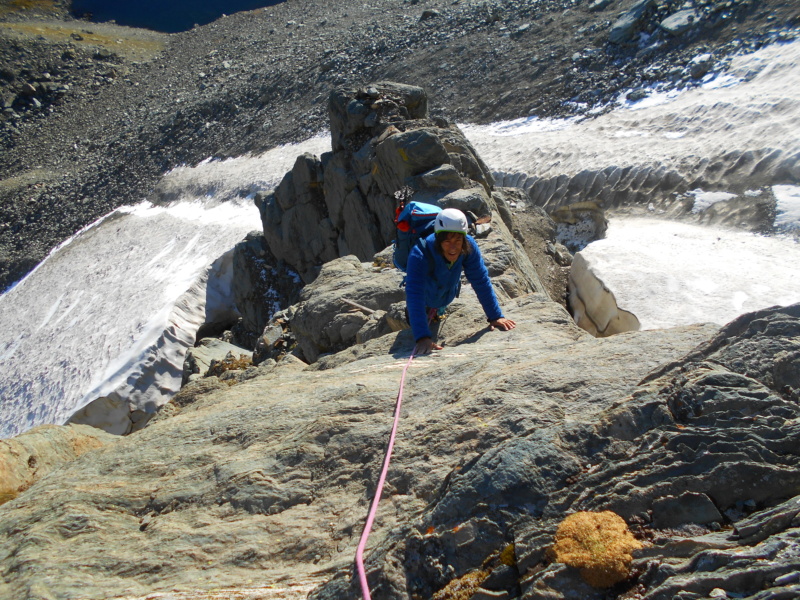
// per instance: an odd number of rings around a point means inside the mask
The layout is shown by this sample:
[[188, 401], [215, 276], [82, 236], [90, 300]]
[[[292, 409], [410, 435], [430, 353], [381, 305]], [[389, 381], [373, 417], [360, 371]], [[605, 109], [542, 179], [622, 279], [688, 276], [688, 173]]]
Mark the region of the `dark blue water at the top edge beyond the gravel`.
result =
[[283, 0], [73, 0], [76, 16], [92, 21], [116, 21], [119, 25], [145, 27], [175, 33], [205, 25], [223, 14], [274, 6]]

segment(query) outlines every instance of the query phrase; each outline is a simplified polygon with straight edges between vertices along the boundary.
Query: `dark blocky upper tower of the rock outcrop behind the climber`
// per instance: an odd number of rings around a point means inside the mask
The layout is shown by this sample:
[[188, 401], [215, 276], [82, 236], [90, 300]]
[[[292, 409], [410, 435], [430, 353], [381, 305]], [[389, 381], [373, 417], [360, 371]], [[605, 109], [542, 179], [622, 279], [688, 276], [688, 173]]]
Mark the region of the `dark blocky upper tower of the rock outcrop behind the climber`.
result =
[[270, 250], [306, 283], [334, 258], [370, 260], [391, 243], [401, 197], [491, 213], [489, 169], [458, 127], [428, 117], [422, 88], [340, 89], [328, 112], [332, 152], [298, 157], [255, 198]]

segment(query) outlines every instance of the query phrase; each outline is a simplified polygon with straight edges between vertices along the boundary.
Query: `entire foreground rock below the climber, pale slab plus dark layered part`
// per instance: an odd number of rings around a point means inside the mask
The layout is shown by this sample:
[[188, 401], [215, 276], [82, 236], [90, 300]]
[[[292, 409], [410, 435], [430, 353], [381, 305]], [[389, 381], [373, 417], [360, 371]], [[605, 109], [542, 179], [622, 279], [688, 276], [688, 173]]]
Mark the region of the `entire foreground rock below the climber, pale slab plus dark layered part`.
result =
[[[467, 584], [475, 597], [527, 600], [791, 597], [800, 305], [720, 331], [595, 338], [545, 294], [505, 293], [502, 278], [521, 267], [501, 267], [524, 261], [502, 219], [493, 226], [480, 243], [518, 326], [489, 331], [467, 287], [439, 326], [445, 349], [411, 363], [367, 552], [373, 597], [446, 598]], [[373, 269], [326, 265], [287, 311], [298, 333], [313, 313], [347, 315], [344, 294], [376, 311], [396, 304], [397, 274]], [[242, 582], [253, 593], [291, 582], [285, 598], [358, 597], [353, 554], [412, 346], [399, 331], [310, 366], [286, 355], [190, 382], [145, 429], [0, 508], [12, 574], [0, 597], [203, 597]], [[581, 511], [615, 513], [644, 546], [612, 590], [549, 552]]]

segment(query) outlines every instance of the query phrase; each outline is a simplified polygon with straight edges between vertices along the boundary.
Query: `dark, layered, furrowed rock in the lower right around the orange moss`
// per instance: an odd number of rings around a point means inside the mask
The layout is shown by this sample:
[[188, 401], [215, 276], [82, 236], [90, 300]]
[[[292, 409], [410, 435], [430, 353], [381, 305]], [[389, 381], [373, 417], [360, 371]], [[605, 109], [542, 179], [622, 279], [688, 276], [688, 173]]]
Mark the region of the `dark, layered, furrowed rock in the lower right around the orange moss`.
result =
[[[591, 419], [466, 459], [376, 548], [371, 586], [425, 596], [512, 543], [515, 577], [487, 583], [490, 597], [792, 597], [800, 396], [775, 377], [797, 364], [798, 328], [800, 305], [745, 315]], [[645, 541], [624, 584], [592, 586], [549, 554], [579, 511], [611, 511]], [[312, 597], [356, 592], [343, 572]]]

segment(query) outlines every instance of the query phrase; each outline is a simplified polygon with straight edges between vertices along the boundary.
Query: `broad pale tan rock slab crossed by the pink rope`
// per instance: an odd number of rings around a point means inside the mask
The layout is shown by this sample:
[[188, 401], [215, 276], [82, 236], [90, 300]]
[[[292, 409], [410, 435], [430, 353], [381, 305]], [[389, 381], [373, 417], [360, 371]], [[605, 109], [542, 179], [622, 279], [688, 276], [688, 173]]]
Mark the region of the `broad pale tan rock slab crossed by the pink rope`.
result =
[[[503, 307], [517, 328], [489, 331], [477, 299], [463, 293], [439, 329], [445, 350], [409, 370], [368, 553], [371, 581], [384, 577], [383, 548], [401, 539], [409, 560], [420, 557], [410, 568], [421, 590], [507, 545], [496, 513], [473, 516], [485, 506], [536, 515], [547, 494], [582, 472], [582, 462], [550, 444], [553, 432], [581, 431], [654, 366], [714, 331], [601, 340], [542, 294]], [[310, 368], [289, 358], [240, 380], [190, 383], [174, 416], [64, 465], [2, 508], [0, 564], [15, 574], [0, 580], [0, 596], [109, 598], [248, 581], [257, 588], [286, 577], [322, 584], [343, 569], [325, 588], [330, 596], [349, 573], [412, 346], [401, 331]], [[425, 514], [435, 515], [433, 538], [428, 525], [408, 529]], [[36, 534], [42, 527], [52, 533]], [[435, 548], [460, 562], [451, 569], [430, 554]], [[391, 564], [405, 568], [402, 556]]]

